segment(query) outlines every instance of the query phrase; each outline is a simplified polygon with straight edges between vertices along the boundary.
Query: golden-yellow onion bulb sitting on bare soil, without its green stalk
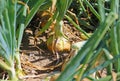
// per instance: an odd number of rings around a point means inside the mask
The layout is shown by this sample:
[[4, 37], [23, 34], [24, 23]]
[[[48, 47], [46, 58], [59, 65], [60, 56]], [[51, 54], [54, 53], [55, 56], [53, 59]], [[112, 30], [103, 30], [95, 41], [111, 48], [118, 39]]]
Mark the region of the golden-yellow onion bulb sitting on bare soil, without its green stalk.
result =
[[71, 44], [70, 41], [65, 37], [58, 37], [55, 39], [53, 36], [51, 36], [47, 40], [47, 47], [52, 52], [64, 52], [70, 51]]

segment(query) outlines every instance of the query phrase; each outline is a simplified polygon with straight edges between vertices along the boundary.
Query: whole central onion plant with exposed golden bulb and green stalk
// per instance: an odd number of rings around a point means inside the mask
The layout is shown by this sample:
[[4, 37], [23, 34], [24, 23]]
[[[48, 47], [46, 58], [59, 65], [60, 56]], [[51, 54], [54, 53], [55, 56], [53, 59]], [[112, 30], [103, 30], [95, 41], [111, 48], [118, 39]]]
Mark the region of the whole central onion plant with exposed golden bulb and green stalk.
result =
[[[53, 31], [54, 35], [50, 36], [47, 40], [47, 46], [48, 49], [50, 49], [54, 54], [57, 54], [57, 52], [60, 51], [69, 51], [70, 50], [70, 41], [67, 39], [67, 37], [63, 33], [63, 18], [66, 14], [66, 11], [68, 10], [72, 0], [48, 0], [46, 3], [51, 2], [52, 4], [49, 5], [49, 8], [53, 7], [54, 10], [50, 10], [52, 16], [48, 19], [48, 22], [42, 27], [40, 32], [36, 34], [36, 37], [39, 36], [41, 33], [43, 33], [46, 29], [48, 29], [53, 24]], [[48, 3], [49, 4], [49, 3]], [[46, 5], [41, 6], [41, 9], [44, 10], [46, 8]], [[46, 8], [48, 10], [48, 8]], [[57, 54], [58, 56], [58, 54]], [[58, 58], [58, 57], [57, 57]]]

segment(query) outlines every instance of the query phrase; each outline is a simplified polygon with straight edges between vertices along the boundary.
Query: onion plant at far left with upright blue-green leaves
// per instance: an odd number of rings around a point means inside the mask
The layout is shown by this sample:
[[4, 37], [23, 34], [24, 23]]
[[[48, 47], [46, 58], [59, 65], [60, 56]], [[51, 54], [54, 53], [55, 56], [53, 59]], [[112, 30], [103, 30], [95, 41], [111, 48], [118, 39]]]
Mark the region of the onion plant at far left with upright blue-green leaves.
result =
[[45, 0], [22, 1], [0, 0], [0, 67], [11, 81], [24, 76], [19, 53], [23, 31]]

